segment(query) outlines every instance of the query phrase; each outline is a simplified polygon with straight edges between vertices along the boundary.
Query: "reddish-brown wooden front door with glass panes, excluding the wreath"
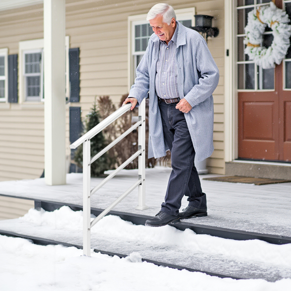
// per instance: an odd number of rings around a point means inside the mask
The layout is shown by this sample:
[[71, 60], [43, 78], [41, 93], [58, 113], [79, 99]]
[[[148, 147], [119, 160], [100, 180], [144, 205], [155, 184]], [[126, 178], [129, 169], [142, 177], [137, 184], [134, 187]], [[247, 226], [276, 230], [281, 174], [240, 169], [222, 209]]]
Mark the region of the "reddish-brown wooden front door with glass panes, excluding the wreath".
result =
[[[266, 0], [238, 0], [238, 119], [239, 158], [291, 162], [291, 49], [275, 69], [262, 69], [244, 55], [247, 13]], [[291, 19], [291, 1], [276, 0]], [[272, 31], [264, 33], [265, 47]]]

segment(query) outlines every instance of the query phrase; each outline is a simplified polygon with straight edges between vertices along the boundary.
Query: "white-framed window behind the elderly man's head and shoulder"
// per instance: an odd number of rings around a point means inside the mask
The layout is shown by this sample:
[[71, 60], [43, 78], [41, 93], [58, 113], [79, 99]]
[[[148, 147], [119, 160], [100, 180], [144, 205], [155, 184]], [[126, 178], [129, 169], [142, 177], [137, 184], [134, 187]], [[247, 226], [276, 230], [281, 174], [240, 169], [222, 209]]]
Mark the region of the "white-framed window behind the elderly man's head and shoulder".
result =
[[[195, 8], [175, 10], [177, 20], [186, 27], [195, 26]], [[129, 16], [129, 88], [135, 79], [135, 69], [146, 52], [152, 28], [146, 21], [146, 14]]]

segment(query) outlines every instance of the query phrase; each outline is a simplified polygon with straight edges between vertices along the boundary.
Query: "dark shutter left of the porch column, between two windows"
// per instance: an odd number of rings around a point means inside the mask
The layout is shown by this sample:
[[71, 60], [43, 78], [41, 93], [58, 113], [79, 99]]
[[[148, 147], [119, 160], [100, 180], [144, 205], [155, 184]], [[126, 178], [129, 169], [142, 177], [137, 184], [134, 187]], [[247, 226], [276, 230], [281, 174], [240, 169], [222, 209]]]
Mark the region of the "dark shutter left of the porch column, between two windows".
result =
[[8, 102], [18, 102], [18, 55], [8, 56]]

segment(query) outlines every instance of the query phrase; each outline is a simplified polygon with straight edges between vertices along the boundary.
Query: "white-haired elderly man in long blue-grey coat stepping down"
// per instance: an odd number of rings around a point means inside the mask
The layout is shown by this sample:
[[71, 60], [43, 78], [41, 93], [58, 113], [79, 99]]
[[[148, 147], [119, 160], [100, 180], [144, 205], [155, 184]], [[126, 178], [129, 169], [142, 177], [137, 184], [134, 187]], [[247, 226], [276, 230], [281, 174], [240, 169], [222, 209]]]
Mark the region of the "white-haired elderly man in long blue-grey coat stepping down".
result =
[[[213, 97], [219, 72], [204, 38], [176, 21], [172, 6], [154, 5], [146, 20], [155, 32], [136, 69], [125, 103], [131, 110], [149, 93], [149, 157], [171, 151], [172, 172], [161, 211], [146, 226], [207, 216], [206, 195], [194, 165], [213, 152]], [[181, 199], [188, 207], [179, 213]]]

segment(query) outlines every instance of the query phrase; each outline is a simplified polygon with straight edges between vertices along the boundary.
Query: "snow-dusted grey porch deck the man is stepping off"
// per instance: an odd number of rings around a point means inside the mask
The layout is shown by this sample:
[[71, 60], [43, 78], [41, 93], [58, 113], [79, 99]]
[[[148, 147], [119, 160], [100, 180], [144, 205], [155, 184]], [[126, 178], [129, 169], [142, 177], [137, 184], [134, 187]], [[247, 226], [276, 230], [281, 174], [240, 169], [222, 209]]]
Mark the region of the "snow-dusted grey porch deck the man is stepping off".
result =
[[[114, 211], [134, 216], [154, 216], [164, 199], [171, 169], [146, 169], [146, 204], [148, 210], [135, 210], [137, 189]], [[256, 186], [203, 180], [217, 175], [200, 175], [207, 194], [208, 216], [184, 220], [185, 223], [207, 228], [222, 228], [238, 232], [257, 233], [290, 239], [291, 242], [291, 183]], [[122, 170], [91, 198], [91, 207], [107, 208], [137, 179], [137, 170]], [[96, 186], [102, 178], [92, 178]], [[82, 174], [68, 174], [67, 185], [47, 186], [43, 178], [0, 182], [0, 194], [36, 201], [82, 206]], [[187, 197], [182, 208], [187, 206]]]

